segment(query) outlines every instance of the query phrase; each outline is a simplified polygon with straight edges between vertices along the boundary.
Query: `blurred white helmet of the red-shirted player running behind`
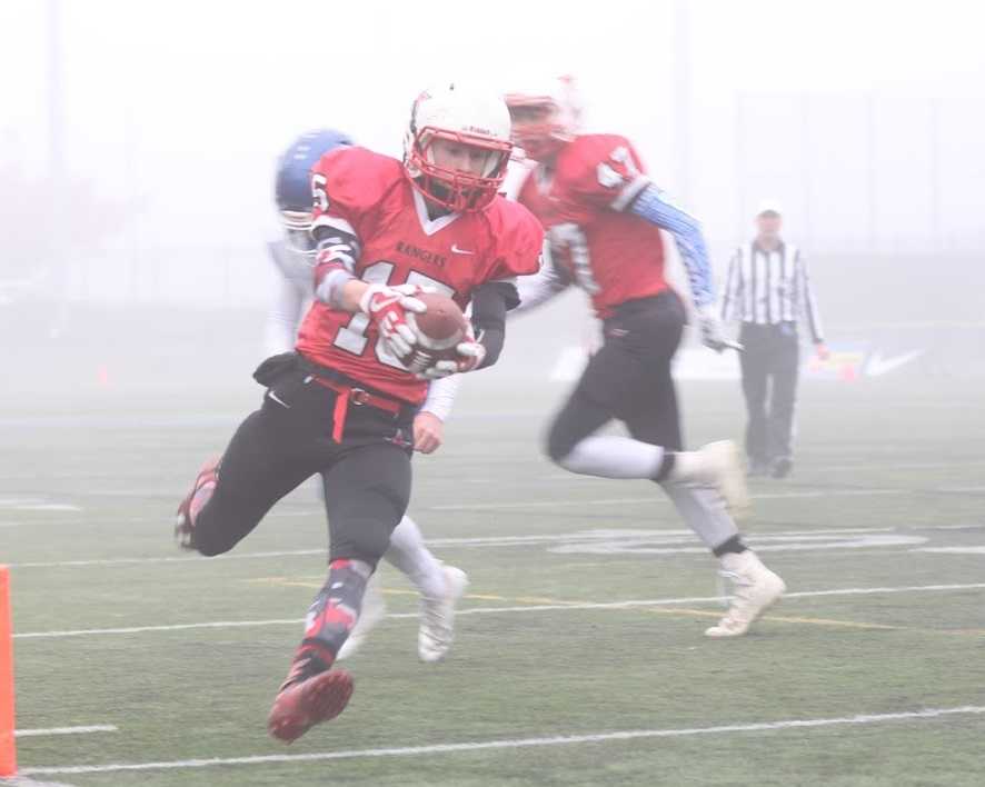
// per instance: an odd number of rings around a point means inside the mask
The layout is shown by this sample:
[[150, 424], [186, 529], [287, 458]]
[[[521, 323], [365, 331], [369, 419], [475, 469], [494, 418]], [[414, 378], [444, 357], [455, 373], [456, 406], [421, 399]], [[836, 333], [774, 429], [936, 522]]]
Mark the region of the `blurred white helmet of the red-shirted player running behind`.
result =
[[578, 135], [581, 98], [573, 77], [556, 77], [507, 91], [513, 141], [535, 161], [550, 158]]

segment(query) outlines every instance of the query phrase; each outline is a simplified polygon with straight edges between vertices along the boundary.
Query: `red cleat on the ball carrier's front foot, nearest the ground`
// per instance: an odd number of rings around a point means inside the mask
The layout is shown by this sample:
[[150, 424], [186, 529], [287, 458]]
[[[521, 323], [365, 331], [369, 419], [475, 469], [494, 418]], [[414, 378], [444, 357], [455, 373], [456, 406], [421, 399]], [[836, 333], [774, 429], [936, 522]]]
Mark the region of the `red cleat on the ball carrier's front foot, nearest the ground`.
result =
[[267, 730], [286, 744], [300, 738], [316, 724], [338, 716], [352, 696], [352, 676], [345, 669], [326, 670], [285, 686], [267, 718]]

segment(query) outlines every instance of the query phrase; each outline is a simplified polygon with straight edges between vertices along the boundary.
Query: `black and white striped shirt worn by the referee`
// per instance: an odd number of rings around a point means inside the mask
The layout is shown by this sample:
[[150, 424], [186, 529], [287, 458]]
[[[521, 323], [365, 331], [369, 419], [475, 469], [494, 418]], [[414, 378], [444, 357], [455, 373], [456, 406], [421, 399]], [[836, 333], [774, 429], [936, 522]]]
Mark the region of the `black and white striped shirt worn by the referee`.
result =
[[782, 242], [766, 251], [755, 241], [736, 249], [725, 281], [723, 321], [775, 325], [797, 322], [802, 316], [807, 319], [814, 342], [824, 341], [820, 315], [800, 250]]

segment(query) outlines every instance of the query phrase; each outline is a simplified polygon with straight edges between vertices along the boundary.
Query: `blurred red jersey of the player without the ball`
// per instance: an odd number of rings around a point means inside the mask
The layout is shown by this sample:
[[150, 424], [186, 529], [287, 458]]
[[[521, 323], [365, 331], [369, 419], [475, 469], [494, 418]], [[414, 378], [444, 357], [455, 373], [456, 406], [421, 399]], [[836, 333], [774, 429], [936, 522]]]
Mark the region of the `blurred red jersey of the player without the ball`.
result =
[[541, 165], [520, 188], [517, 199], [547, 229], [555, 263], [588, 292], [601, 318], [668, 288], [660, 230], [624, 212], [649, 182], [625, 137], [585, 135], [561, 149], [553, 172]]

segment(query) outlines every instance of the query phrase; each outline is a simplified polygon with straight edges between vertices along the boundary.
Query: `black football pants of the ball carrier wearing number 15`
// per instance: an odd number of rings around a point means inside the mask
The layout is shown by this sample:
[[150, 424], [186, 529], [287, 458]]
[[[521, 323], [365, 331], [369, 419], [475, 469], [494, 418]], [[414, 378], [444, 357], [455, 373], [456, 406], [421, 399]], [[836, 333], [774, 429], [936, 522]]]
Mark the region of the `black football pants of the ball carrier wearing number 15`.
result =
[[331, 437], [335, 391], [289, 359], [262, 381], [269, 385], [263, 404], [233, 435], [216, 490], [196, 519], [198, 550], [228, 551], [277, 500], [319, 472], [329, 560], [376, 566], [410, 499], [412, 411], [395, 416], [350, 402], [339, 444]]

